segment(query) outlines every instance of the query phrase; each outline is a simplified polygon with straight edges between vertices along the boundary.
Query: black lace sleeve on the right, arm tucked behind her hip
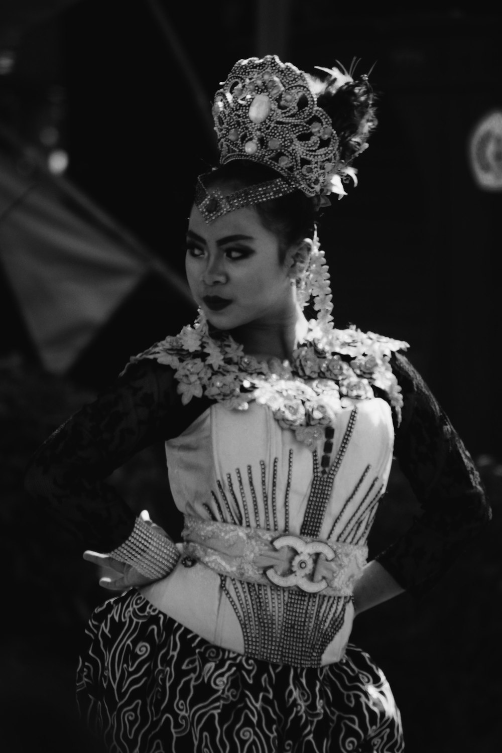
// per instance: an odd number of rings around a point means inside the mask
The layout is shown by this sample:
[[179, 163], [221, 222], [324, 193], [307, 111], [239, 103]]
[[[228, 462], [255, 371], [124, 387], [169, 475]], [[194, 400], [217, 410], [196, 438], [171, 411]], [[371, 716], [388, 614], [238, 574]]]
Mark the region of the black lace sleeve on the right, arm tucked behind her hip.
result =
[[394, 453], [423, 514], [376, 559], [421, 596], [491, 514], [473, 460], [431, 391], [403, 355], [394, 355], [391, 365], [404, 401]]

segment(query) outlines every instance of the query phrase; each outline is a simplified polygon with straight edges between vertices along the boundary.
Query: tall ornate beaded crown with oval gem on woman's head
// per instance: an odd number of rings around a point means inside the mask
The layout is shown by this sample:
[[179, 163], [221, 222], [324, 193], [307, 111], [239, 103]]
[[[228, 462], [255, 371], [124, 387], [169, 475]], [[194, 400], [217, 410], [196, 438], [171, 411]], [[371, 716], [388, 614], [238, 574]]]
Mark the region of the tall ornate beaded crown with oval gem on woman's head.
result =
[[[339, 75], [342, 84], [352, 81]], [[340, 160], [339, 138], [306, 75], [290, 62], [275, 55], [239, 60], [215, 94], [212, 112], [221, 164], [252, 160], [307, 196], [345, 194], [341, 177], [354, 171]]]

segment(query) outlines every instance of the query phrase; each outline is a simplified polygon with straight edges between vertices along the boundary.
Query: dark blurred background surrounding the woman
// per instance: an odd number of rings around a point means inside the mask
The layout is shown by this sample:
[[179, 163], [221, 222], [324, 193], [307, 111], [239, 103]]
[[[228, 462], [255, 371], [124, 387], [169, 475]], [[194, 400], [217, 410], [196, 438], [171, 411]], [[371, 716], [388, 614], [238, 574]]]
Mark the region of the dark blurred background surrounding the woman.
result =
[[[359, 186], [320, 229], [336, 325], [411, 344], [494, 508], [440, 587], [361, 615], [355, 639], [391, 680], [409, 753], [500, 751], [501, 22], [467, 3], [2, 0], [0, 654], [2, 694], [36, 720], [19, 724], [4, 704], [6, 749], [45, 749], [41, 720], [53, 718], [67, 723], [50, 721], [47, 749], [71, 749], [81, 633], [107, 596], [23, 495], [26, 462], [130, 355], [193, 319], [184, 233], [196, 175], [215, 160], [211, 96], [237, 59], [277, 53], [309, 72], [376, 63], [379, 129], [357, 160]], [[162, 447], [114, 483], [175, 534]], [[393, 468], [373, 550], [414, 513]]]

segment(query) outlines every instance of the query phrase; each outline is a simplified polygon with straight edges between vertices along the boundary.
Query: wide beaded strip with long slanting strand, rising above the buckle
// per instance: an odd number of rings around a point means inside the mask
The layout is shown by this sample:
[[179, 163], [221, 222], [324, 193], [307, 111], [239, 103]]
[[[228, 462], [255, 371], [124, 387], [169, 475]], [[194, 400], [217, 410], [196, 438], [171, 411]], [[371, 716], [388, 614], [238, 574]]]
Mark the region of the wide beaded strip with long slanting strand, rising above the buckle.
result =
[[340, 444], [338, 453], [336, 453], [336, 458], [334, 459], [329, 472], [322, 472], [324, 471], [324, 468], [321, 468], [319, 465], [318, 453], [312, 453], [312, 462], [314, 466], [312, 486], [305, 516], [303, 517], [302, 527], [300, 529], [300, 535], [318, 536], [321, 532], [327, 503], [330, 500], [331, 489], [333, 489], [333, 481], [335, 480], [335, 476], [338, 473], [339, 467], [342, 465], [342, 460], [347, 452], [356, 419], [357, 407], [354, 407], [354, 409], [351, 410], [347, 428], [345, 428], [345, 433], [343, 434], [342, 443]]

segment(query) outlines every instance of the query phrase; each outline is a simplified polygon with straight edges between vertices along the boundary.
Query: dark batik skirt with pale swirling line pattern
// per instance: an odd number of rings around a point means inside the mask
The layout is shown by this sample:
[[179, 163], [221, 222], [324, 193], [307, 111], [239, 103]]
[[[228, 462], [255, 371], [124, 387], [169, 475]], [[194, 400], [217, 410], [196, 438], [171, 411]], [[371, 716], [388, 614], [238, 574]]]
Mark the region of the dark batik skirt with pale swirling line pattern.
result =
[[211, 645], [130, 590], [105, 602], [78, 667], [81, 714], [110, 753], [400, 753], [382, 671], [349, 645], [317, 668]]

